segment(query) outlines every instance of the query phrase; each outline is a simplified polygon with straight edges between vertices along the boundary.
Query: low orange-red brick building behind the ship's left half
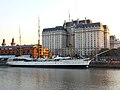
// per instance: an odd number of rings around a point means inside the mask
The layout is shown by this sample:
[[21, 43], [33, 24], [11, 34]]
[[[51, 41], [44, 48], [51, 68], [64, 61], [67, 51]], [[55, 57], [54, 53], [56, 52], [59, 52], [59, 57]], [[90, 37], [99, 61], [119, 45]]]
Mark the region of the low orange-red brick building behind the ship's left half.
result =
[[[49, 51], [46, 48], [39, 46], [40, 57], [49, 57]], [[28, 55], [33, 58], [38, 58], [38, 45], [16, 45], [16, 46], [0, 46], [0, 56], [5, 55]]]

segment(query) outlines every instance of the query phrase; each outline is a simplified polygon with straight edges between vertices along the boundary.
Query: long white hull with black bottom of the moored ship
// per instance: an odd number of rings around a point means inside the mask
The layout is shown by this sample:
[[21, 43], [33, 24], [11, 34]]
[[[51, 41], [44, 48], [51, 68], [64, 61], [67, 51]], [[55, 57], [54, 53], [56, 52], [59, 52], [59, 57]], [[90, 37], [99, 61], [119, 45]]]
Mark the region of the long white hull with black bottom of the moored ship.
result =
[[14, 67], [40, 67], [40, 68], [88, 68], [90, 61], [81, 60], [59, 60], [59, 61], [31, 61], [19, 59], [17, 61], [8, 60], [7, 64]]

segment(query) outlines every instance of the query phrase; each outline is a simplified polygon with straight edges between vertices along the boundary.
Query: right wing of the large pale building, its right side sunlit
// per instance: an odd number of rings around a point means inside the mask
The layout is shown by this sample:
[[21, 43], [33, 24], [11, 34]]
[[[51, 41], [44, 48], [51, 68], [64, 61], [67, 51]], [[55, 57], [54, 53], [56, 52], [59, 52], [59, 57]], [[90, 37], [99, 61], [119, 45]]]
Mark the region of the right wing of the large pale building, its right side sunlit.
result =
[[104, 34], [104, 27], [100, 22], [78, 24], [75, 28], [75, 49], [77, 53], [85, 56], [94, 55], [101, 48], [109, 48], [109, 45], [105, 47], [109, 38], [106, 42]]

